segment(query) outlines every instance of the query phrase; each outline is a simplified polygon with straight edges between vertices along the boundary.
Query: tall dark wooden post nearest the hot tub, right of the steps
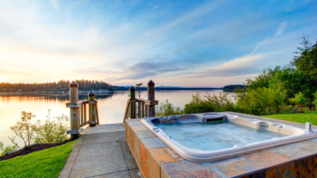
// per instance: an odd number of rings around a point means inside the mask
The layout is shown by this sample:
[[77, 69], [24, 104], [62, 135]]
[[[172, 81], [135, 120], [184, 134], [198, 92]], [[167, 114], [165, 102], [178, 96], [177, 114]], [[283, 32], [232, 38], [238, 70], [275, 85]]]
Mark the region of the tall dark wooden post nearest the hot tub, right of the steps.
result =
[[145, 101], [145, 105], [147, 105], [147, 116], [146, 117], [155, 117], [155, 105], [158, 105], [159, 101], [155, 101], [154, 97], [154, 82], [152, 80], [147, 83], [147, 101]]

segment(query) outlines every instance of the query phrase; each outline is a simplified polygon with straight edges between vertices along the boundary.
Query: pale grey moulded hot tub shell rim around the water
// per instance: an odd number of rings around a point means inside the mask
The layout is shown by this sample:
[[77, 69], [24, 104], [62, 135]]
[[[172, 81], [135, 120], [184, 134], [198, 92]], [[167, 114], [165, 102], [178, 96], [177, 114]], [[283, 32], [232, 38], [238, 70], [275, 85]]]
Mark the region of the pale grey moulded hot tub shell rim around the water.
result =
[[[266, 129], [282, 134], [288, 135], [287, 137], [275, 138], [270, 140], [265, 140], [256, 143], [250, 143], [241, 147], [231, 147], [220, 150], [206, 151], [199, 149], [188, 148], [177, 141], [173, 140], [171, 137], [164, 133], [164, 130], [157, 128], [154, 124], [167, 124], [174, 122], [181, 123], [193, 123], [193, 122], [206, 122], [209, 115], [215, 115], [216, 117], [223, 117], [228, 122], [233, 122], [237, 124], [242, 124], [255, 129]], [[189, 114], [189, 115], [177, 115], [177, 116], [166, 116], [163, 120], [162, 117], [144, 118], [140, 122], [146, 128], [152, 131], [154, 135], [159, 137], [166, 145], [171, 147], [176, 153], [184, 157], [186, 160], [193, 162], [210, 162], [217, 161], [224, 158], [229, 158], [233, 156], [243, 155], [247, 153], [252, 153], [255, 151], [261, 151], [263, 149], [270, 149], [277, 146], [282, 146], [285, 144], [300, 142], [308, 139], [313, 139], [317, 137], [317, 133], [305, 132], [303, 129], [288, 126], [285, 124], [275, 124], [268, 121], [262, 121], [257, 119], [243, 118], [235, 116], [228, 113], [212, 112], [212, 113], [201, 113], [201, 114]], [[155, 121], [155, 122], [153, 122]], [[152, 124], [152, 122], [154, 124]]]

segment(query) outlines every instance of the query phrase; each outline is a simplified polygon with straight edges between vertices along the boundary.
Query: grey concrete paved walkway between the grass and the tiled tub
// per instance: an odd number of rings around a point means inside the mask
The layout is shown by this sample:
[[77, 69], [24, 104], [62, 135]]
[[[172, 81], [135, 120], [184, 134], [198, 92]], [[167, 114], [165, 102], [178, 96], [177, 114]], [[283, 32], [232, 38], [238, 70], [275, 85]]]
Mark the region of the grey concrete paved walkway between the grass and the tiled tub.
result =
[[79, 137], [59, 178], [142, 177], [126, 144], [125, 131], [87, 133]]

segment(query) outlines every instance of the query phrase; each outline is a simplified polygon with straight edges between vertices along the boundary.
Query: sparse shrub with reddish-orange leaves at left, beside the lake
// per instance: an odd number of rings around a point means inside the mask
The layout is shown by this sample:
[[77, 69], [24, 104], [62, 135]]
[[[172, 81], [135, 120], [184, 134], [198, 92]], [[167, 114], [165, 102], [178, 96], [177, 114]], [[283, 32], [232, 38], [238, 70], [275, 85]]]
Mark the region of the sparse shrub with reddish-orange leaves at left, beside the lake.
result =
[[[32, 114], [32, 112], [22, 111], [21, 113], [21, 120], [17, 121], [16, 125], [10, 127], [10, 129], [13, 130], [18, 137], [22, 138], [25, 148], [28, 148], [33, 137], [33, 132], [34, 130], [36, 130], [37, 124], [40, 122], [40, 120], [35, 120], [34, 124], [32, 124], [31, 119], [34, 118], [35, 115]], [[9, 139], [12, 141], [13, 144], [15, 144], [19, 149], [21, 149], [18, 146], [18, 143], [14, 141], [15, 137], [9, 137]]]

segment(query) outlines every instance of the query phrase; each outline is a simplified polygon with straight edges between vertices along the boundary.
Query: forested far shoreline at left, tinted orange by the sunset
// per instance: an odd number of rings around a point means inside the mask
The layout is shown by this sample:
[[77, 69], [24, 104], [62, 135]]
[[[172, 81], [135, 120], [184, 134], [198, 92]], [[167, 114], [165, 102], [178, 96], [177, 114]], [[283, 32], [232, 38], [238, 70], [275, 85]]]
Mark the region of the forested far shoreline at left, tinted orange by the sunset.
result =
[[[113, 86], [98, 80], [75, 80], [78, 83], [78, 90], [108, 90], [114, 91]], [[69, 80], [59, 80], [56, 82], [47, 83], [34, 83], [34, 84], [24, 84], [24, 83], [0, 83], [1, 92], [68, 92], [69, 91]], [[5, 90], [4, 90], [5, 89]]]

